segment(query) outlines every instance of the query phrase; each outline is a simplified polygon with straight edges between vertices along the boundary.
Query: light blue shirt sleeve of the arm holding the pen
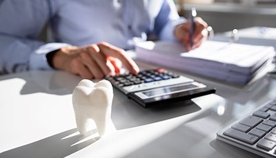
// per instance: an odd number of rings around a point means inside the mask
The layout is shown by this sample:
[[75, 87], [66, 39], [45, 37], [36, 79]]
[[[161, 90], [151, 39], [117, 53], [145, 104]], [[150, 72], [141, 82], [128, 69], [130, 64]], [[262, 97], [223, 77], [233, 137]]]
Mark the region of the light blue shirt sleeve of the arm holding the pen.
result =
[[177, 41], [174, 34], [175, 26], [185, 22], [184, 17], [179, 17], [175, 3], [164, 0], [155, 20], [155, 34], [161, 41]]

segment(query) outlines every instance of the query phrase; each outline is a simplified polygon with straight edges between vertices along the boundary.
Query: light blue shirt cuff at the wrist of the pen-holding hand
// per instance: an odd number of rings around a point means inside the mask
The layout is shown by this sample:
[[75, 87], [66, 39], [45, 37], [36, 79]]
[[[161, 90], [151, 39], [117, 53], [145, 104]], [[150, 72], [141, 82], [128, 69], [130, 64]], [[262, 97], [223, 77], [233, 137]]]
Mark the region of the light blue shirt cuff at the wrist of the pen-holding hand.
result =
[[168, 23], [168, 25], [166, 25], [161, 31], [160, 40], [177, 42], [177, 38], [175, 38], [175, 27], [185, 22], [186, 19], [184, 17], [180, 17], [180, 19], [176, 21], [170, 21], [170, 23]]

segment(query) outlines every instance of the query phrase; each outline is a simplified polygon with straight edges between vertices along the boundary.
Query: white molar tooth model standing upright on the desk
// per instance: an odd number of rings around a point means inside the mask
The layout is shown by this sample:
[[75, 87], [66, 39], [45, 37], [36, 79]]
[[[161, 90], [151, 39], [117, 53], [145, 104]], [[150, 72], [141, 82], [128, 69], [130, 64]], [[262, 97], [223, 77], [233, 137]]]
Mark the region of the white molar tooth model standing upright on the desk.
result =
[[110, 122], [112, 99], [113, 89], [108, 80], [94, 83], [83, 79], [79, 82], [72, 93], [72, 104], [81, 135], [86, 133], [88, 119], [94, 120], [100, 136], [106, 133]]

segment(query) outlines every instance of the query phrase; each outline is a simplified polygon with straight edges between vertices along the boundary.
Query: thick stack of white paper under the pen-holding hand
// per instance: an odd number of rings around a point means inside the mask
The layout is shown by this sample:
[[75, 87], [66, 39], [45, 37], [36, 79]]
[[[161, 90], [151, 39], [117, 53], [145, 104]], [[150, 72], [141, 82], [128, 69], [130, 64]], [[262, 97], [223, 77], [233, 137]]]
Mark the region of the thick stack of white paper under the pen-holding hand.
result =
[[200, 74], [226, 82], [246, 84], [275, 56], [274, 47], [206, 41], [186, 52], [179, 43], [137, 43], [137, 60]]

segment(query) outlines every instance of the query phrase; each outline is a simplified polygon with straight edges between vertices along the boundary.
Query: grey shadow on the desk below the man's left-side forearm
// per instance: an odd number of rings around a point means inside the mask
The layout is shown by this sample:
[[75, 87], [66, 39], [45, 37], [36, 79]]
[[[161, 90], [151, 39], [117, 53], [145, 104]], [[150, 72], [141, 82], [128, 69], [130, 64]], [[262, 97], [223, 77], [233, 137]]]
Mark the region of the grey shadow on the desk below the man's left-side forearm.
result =
[[81, 80], [79, 76], [68, 74], [65, 71], [28, 71], [1, 76], [0, 80], [15, 78], [26, 82], [20, 91], [22, 95], [38, 92], [56, 95], [72, 94]]

